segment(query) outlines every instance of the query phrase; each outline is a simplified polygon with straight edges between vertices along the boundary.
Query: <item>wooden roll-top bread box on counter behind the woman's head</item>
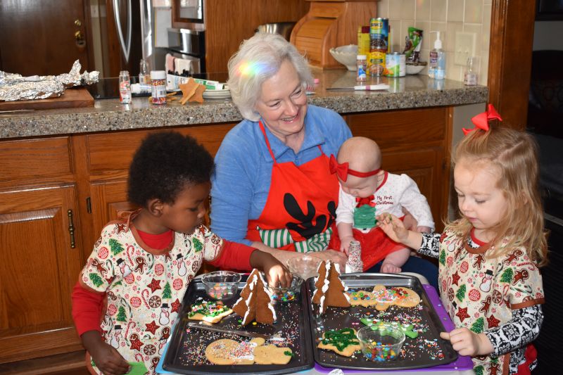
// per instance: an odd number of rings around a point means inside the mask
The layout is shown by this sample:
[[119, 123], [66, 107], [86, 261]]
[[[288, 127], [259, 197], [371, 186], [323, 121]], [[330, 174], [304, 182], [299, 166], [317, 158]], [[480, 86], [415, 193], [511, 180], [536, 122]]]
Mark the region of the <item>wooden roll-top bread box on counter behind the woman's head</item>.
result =
[[308, 0], [309, 12], [296, 23], [291, 43], [305, 54], [309, 63], [322, 69], [343, 68], [329, 50], [358, 44], [358, 26], [377, 17], [377, 1]]

